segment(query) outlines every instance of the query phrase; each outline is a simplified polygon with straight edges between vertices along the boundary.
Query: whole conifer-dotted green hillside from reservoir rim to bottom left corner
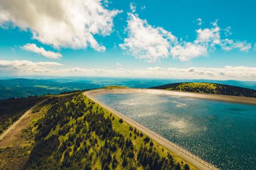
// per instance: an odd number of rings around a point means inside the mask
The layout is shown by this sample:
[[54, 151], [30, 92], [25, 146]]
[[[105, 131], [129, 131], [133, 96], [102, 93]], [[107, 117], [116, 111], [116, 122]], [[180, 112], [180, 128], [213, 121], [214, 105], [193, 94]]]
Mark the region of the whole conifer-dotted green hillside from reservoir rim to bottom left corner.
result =
[[33, 114], [19, 148], [0, 148], [0, 169], [196, 169], [81, 93]]

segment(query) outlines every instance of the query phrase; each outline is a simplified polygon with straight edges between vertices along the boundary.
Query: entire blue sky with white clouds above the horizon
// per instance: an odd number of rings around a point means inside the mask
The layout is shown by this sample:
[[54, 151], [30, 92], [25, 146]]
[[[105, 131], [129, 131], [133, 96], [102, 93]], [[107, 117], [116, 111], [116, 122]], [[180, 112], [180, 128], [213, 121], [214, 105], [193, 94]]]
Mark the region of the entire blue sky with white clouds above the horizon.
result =
[[0, 76], [256, 81], [256, 1], [0, 1]]

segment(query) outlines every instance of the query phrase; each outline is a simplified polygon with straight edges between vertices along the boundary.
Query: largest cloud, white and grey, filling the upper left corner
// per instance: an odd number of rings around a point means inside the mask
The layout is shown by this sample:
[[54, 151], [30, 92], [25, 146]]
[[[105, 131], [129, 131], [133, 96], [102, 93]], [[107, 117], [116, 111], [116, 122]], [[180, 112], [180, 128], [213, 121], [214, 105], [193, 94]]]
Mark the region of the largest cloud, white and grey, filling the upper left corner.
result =
[[121, 11], [108, 10], [101, 0], [0, 1], [0, 25], [31, 31], [33, 38], [55, 48], [86, 48], [104, 51], [94, 38], [113, 31], [113, 17]]

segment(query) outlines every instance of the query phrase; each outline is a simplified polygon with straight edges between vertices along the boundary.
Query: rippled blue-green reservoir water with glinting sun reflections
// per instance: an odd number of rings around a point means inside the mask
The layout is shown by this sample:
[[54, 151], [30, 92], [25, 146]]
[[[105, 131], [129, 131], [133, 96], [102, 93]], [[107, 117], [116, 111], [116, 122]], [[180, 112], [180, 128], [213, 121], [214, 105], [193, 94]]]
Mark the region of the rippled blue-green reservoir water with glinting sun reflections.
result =
[[96, 98], [221, 169], [256, 167], [256, 105], [154, 94]]

